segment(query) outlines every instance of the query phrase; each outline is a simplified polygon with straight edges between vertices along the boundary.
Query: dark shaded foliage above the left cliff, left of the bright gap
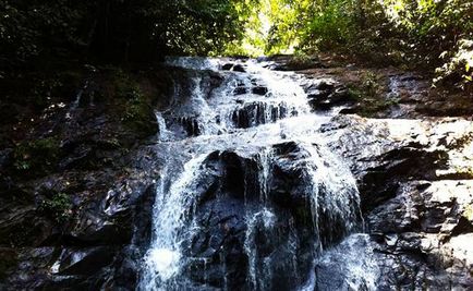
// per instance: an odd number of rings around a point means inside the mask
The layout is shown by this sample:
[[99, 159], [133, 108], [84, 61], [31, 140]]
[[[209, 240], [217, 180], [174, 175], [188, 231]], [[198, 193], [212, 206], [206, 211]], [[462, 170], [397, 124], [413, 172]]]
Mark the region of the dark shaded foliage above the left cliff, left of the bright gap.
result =
[[220, 53], [242, 36], [245, 2], [0, 1], [0, 73], [32, 60], [126, 62], [167, 53]]

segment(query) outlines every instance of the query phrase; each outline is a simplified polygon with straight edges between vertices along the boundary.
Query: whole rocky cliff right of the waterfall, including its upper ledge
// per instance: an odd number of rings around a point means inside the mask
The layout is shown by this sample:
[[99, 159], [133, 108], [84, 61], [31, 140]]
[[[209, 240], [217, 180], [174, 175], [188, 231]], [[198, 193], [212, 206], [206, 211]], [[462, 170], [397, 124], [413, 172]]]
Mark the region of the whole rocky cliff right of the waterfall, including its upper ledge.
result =
[[[379, 84], [372, 104], [360, 102], [350, 94], [349, 71], [363, 72], [337, 70], [301, 71], [308, 76], [302, 84], [315, 110], [341, 106], [337, 110], [349, 113], [335, 117], [320, 131], [330, 148], [351, 163], [367, 235], [351, 235], [319, 259], [317, 289], [353, 289], [361, 276], [368, 289], [470, 290], [473, 122], [446, 117], [464, 114], [469, 96], [439, 100], [422, 77], [390, 71], [364, 77]], [[366, 85], [360, 86], [369, 97]]]

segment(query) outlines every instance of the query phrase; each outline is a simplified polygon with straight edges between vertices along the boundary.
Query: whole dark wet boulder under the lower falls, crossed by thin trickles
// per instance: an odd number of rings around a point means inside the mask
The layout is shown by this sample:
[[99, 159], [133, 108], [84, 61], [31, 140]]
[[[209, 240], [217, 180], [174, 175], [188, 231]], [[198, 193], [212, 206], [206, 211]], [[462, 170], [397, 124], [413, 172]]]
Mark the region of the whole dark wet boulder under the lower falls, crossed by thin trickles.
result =
[[[193, 281], [215, 288], [293, 289], [307, 279], [313, 245], [330, 245], [350, 228], [339, 223], [343, 220], [337, 211], [322, 210], [332, 205], [328, 192], [320, 190], [320, 208], [314, 210], [310, 153], [294, 142], [275, 145], [274, 151], [274, 158], [258, 148], [214, 151], [204, 160], [189, 218], [199, 231], [183, 246], [192, 257], [185, 268]], [[333, 225], [340, 231], [329, 230]]]

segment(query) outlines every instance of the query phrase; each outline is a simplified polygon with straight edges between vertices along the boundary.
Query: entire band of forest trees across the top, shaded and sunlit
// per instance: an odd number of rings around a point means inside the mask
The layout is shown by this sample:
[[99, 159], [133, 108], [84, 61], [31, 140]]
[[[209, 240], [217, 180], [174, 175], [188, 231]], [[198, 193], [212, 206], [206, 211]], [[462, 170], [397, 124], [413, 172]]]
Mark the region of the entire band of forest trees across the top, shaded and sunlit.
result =
[[3, 0], [0, 72], [166, 54], [331, 51], [471, 82], [470, 0]]

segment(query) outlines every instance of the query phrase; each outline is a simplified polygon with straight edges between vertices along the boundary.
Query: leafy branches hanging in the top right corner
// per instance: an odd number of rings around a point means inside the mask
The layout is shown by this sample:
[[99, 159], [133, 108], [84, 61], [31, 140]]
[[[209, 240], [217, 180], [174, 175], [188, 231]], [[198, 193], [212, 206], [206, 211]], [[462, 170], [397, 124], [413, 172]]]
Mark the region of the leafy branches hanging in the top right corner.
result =
[[464, 0], [386, 0], [385, 11], [403, 32], [411, 61], [436, 70], [435, 82], [471, 83], [473, 2]]

